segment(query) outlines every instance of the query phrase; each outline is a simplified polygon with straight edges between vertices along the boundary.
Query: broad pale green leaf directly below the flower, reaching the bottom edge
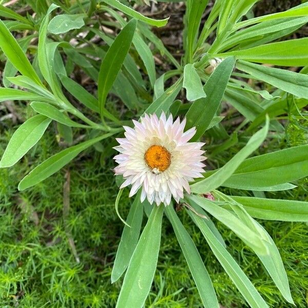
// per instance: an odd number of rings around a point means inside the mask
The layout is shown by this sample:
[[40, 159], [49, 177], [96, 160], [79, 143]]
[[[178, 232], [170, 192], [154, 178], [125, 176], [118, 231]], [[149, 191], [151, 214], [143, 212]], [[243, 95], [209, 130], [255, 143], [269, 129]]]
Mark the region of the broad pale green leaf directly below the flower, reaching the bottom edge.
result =
[[142, 308], [156, 271], [164, 205], [154, 206], [130, 259], [117, 308]]

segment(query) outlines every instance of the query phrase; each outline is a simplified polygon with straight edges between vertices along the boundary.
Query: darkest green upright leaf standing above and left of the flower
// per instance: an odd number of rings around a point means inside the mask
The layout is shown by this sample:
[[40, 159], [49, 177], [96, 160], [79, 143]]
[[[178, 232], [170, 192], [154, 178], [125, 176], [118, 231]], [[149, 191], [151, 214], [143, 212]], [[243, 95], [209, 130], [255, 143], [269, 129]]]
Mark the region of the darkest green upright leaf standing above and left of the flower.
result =
[[115, 37], [102, 62], [99, 73], [99, 106], [101, 116], [104, 116], [104, 106], [110, 91], [129, 51], [137, 20], [131, 20]]

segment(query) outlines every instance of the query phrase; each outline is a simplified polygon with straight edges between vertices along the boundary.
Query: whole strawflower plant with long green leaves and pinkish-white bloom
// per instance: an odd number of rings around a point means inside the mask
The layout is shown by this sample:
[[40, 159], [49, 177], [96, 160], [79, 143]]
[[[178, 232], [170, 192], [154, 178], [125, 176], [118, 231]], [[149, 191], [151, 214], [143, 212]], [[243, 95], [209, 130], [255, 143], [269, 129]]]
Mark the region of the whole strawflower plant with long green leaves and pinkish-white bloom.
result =
[[[206, 264], [175, 207], [184, 208], [200, 229], [247, 305], [268, 307], [228, 252], [213, 218], [258, 256], [281, 301], [294, 304], [275, 242], [255, 218], [308, 221], [308, 202], [266, 198], [267, 192], [295, 188], [293, 183], [308, 175], [308, 145], [258, 152], [269, 140], [284, 138], [285, 120], [306, 121], [308, 39], [284, 37], [307, 23], [308, 3], [254, 17], [257, 2], [216, 0], [204, 18], [208, 1], [188, 0], [180, 62], [151, 31], [168, 18], [147, 17], [129, 2], [29, 1], [35, 14], [26, 17], [0, 5], [1, 59], [6, 61], [0, 100], [30, 102], [33, 115], [13, 134], [0, 167], [26, 156], [51, 122], [66, 148], [35, 166], [18, 189], [44, 181], [91, 146], [102, 161], [115, 159], [121, 183], [117, 213], [126, 186], [130, 197], [136, 195], [127, 219], [121, 218], [125, 226], [111, 274], [114, 283], [125, 273], [119, 308], [145, 305], [164, 215], [200, 305], [219, 307]], [[20, 37], [25, 29], [27, 35]], [[168, 64], [160, 76], [153, 55]], [[97, 91], [90, 93], [74, 80], [80, 71]], [[227, 118], [240, 121], [226, 129]], [[80, 131], [85, 141], [74, 140]], [[217, 154], [234, 145], [241, 149], [221, 166]], [[116, 156], [114, 149], [120, 152]], [[148, 220], [141, 233], [144, 215]]]

